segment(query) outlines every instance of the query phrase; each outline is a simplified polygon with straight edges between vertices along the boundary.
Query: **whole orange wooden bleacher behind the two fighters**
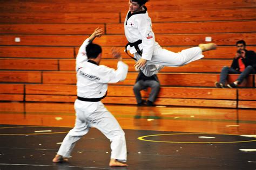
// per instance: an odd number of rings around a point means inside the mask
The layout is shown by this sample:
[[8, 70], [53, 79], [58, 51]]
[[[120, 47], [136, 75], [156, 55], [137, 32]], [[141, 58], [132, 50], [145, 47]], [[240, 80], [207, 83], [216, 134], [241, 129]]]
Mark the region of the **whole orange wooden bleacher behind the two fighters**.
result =
[[[123, 52], [126, 0], [0, 2], [0, 101], [74, 102], [78, 48], [96, 27], [103, 27], [104, 36], [95, 41], [103, 46], [102, 64], [116, 67], [111, 58], [111, 47], [116, 46], [129, 65], [127, 79], [110, 84], [103, 102], [136, 104], [132, 88], [138, 73]], [[205, 37], [219, 45], [204, 53], [204, 59], [162, 69], [156, 104], [256, 108], [255, 75], [238, 89], [214, 88], [221, 68], [231, 65], [236, 41], [244, 39], [247, 48], [256, 51], [255, 1], [151, 0], [147, 7], [156, 40], [164, 48], [179, 52], [204, 43]], [[21, 42], [15, 42], [16, 37]], [[228, 82], [237, 77], [228, 76]], [[142, 91], [143, 97], [149, 93]]]

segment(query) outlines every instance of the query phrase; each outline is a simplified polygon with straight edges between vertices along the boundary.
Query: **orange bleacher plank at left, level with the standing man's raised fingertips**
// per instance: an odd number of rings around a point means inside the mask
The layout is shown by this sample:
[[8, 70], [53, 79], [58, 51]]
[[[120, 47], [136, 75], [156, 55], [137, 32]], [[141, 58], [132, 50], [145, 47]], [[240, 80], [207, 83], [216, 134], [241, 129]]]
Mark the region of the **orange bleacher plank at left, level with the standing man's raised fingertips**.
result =
[[97, 27], [104, 28], [104, 24], [0, 24], [0, 32], [1, 34], [83, 35], [93, 33]]

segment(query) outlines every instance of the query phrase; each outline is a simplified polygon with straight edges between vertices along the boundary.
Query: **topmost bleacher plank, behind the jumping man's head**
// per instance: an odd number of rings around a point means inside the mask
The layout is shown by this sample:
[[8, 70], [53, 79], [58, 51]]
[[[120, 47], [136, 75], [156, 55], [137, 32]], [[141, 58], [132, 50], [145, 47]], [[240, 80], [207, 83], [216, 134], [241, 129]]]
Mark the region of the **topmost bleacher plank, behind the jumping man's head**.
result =
[[[113, 12], [127, 11], [127, 2], [100, 2], [100, 3], [47, 3], [47, 2], [23, 2], [23, 3], [2, 3], [0, 11], [3, 12]], [[114, 8], [113, 8], [114, 6]], [[252, 8], [256, 7], [254, 1], [175, 1], [166, 3], [165, 1], [152, 1], [146, 4], [151, 11], [170, 10], [205, 10], [205, 9], [232, 9], [232, 8]]]

